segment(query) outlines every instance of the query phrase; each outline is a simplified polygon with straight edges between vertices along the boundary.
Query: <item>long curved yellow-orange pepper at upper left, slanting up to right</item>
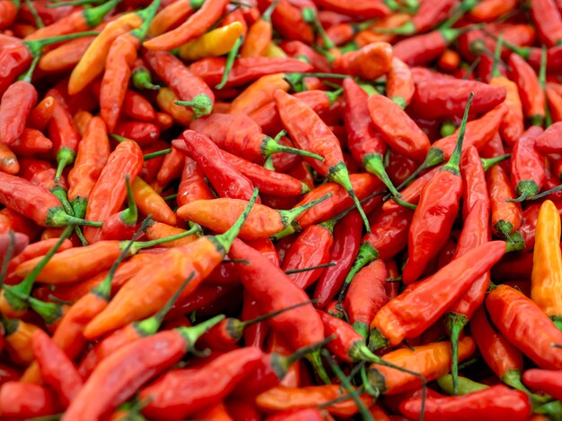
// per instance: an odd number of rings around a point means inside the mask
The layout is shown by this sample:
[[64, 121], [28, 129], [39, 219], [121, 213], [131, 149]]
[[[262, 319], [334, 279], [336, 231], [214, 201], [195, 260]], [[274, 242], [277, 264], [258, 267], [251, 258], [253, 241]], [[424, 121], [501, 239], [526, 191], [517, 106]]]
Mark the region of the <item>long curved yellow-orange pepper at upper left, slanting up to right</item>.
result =
[[101, 30], [70, 74], [68, 93], [75, 95], [97, 78], [105, 68], [105, 59], [113, 41], [129, 30], [140, 28], [142, 24], [143, 19], [138, 13], [127, 13]]

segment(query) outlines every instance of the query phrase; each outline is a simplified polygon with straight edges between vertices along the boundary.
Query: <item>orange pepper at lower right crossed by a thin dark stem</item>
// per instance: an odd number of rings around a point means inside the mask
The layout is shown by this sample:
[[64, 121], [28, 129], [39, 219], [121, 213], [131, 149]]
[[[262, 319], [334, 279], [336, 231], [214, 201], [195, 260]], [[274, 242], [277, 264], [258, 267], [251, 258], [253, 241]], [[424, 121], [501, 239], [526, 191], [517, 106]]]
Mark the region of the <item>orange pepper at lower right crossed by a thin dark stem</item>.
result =
[[[459, 343], [459, 358], [464, 360], [470, 357], [475, 348], [474, 341], [470, 337], [462, 338]], [[434, 342], [413, 349], [400, 348], [385, 354], [382, 360], [421, 374], [426, 382], [431, 382], [447, 374], [451, 369], [451, 344]], [[420, 376], [376, 364], [371, 365], [369, 381], [385, 395], [413, 391], [423, 384]]]

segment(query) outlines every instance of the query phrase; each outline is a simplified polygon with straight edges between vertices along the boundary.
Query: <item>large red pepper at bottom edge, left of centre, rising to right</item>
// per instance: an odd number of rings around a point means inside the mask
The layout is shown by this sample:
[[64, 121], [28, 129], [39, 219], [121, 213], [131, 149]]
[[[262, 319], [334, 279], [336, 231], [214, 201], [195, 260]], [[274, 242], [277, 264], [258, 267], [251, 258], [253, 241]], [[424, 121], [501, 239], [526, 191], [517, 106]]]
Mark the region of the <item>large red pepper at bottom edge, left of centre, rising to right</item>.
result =
[[[200, 368], [175, 370], [141, 391], [150, 403], [143, 408], [148, 417], [178, 419], [189, 417], [224, 399], [263, 358], [256, 347], [228, 352]], [[215, 374], [220, 373], [217, 377]], [[173, 393], [170, 393], [173, 390]]]

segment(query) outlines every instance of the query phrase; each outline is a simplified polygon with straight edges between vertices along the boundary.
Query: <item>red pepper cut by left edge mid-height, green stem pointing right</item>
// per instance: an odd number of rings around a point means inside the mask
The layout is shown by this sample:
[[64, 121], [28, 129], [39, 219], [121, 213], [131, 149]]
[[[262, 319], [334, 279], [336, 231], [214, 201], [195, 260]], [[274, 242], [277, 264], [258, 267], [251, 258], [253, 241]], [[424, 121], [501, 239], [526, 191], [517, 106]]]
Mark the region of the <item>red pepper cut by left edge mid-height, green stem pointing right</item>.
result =
[[[101, 227], [100, 222], [67, 215], [58, 199], [44, 188], [17, 176], [0, 173], [0, 202], [7, 208], [25, 214], [41, 227], [64, 227], [80, 224]], [[22, 201], [25, 197], [25, 201]]]

